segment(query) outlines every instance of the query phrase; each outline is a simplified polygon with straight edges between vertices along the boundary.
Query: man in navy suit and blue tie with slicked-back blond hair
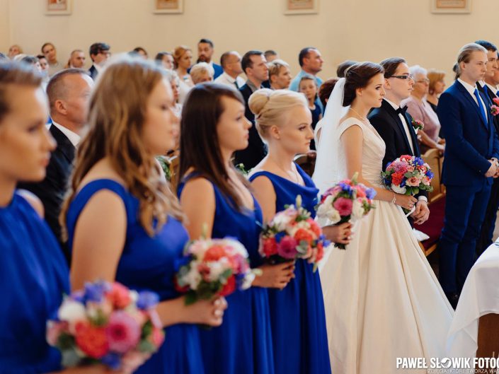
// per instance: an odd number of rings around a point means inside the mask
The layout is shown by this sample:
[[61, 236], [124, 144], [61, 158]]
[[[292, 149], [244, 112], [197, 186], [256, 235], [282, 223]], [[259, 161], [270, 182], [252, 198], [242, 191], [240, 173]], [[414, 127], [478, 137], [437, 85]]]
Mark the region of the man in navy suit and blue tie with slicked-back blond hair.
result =
[[475, 246], [498, 176], [499, 139], [488, 98], [476, 88], [487, 71], [487, 50], [471, 43], [459, 51], [457, 80], [442, 93], [437, 115], [445, 134], [442, 182], [447, 187], [440, 238], [440, 284], [457, 305], [475, 262]]

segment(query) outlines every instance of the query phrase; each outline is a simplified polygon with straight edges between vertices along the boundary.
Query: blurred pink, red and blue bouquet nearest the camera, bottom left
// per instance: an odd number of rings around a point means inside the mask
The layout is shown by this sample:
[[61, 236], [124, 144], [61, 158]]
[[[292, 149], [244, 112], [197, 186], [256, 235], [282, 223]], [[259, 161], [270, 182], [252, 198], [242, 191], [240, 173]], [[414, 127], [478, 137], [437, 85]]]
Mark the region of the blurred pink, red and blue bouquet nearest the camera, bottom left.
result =
[[130, 291], [119, 283], [85, 284], [64, 298], [57, 319], [47, 322], [47, 341], [62, 353], [62, 366], [122, 361], [156, 352], [164, 341], [156, 293]]

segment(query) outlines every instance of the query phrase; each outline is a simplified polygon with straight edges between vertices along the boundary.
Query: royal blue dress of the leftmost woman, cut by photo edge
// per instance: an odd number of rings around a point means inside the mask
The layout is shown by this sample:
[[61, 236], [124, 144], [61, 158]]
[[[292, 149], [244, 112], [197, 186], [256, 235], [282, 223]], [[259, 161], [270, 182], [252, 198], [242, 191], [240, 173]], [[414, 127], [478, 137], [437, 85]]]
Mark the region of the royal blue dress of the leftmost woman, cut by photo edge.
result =
[[0, 208], [0, 249], [0, 373], [57, 371], [61, 356], [45, 332], [69, 293], [69, 272], [49, 226], [17, 193]]

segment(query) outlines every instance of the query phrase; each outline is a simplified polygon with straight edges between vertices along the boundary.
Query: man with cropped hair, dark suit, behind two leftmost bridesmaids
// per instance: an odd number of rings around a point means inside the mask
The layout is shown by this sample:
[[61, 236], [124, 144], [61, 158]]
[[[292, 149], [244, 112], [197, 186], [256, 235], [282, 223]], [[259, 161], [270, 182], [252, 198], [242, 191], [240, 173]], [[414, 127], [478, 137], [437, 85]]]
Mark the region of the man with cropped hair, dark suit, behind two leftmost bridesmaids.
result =
[[42, 182], [19, 185], [20, 188], [33, 192], [42, 201], [45, 220], [59, 241], [68, 263], [69, 250], [62, 240], [59, 214], [73, 169], [76, 146], [86, 123], [92, 86], [92, 79], [81, 69], [66, 69], [52, 76], [47, 85], [52, 118], [49, 131], [57, 141], [57, 148], [52, 152], [47, 174]]

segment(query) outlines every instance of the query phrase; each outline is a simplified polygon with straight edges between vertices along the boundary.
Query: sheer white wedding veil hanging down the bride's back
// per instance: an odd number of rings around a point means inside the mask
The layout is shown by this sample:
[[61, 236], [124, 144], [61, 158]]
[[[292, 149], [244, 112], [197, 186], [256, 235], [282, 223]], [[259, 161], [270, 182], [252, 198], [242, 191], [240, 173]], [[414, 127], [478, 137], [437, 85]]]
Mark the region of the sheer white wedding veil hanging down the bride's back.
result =
[[346, 165], [344, 157], [341, 157], [340, 148], [340, 119], [343, 118], [350, 106], [343, 107], [343, 96], [345, 94], [345, 78], [341, 78], [334, 86], [329, 96], [324, 117], [317, 124], [315, 136], [321, 129], [321, 138], [316, 140], [317, 158], [314, 170], [314, 180], [319, 194], [333, 187], [344, 177]]

